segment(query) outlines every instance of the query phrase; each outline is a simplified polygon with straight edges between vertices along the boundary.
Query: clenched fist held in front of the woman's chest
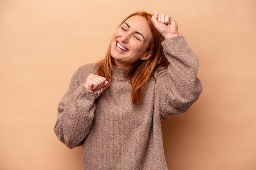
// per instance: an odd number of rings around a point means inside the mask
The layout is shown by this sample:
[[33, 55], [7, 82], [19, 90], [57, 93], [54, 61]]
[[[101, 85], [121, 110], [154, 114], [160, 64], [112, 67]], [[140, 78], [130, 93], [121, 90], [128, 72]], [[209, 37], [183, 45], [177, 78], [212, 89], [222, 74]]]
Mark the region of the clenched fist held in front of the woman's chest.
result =
[[95, 95], [100, 95], [106, 88], [110, 86], [105, 77], [90, 74], [84, 84], [85, 88], [95, 92]]

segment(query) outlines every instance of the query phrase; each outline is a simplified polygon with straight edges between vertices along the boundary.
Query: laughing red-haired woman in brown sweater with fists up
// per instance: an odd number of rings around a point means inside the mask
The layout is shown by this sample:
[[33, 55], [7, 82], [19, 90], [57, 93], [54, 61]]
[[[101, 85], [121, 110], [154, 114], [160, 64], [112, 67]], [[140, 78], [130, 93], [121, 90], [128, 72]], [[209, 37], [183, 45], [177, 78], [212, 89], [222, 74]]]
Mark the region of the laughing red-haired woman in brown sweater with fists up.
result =
[[198, 99], [197, 70], [172, 17], [133, 13], [105, 59], [74, 73], [54, 132], [69, 148], [83, 145], [83, 170], [166, 170], [161, 120]]

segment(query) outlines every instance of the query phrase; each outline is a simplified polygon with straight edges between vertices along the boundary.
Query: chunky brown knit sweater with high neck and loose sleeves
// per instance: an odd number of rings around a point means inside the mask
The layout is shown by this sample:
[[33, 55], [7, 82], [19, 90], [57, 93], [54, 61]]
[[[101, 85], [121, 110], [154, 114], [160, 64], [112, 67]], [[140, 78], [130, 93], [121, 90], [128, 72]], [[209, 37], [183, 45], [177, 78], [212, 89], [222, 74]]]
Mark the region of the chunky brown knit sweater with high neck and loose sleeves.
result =
[[58, 104], [54, 132], [68, 148], [83, 145], [83, 170], [167, 170], [161, 120], [184, 113], [202, 92], [198, 58], [183, 36], [162, 42], [170, 65], [146, 84], [132, 104], [124, 69], [115, 67], [112, 83], [100, 96], [84, 87], [96, 64], [74, 73]]

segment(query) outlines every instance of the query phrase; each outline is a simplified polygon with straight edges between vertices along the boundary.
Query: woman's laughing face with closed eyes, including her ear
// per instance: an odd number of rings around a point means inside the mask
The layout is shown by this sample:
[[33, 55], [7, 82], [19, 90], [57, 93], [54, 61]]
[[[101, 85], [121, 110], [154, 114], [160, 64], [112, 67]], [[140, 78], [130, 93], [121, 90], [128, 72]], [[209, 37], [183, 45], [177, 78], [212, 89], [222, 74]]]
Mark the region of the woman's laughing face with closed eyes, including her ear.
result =
[[139, 15], [132, 16], [115, 31], [110, 54], [118, 67], [127, 68], [137, 60], [147, 60], [151, 56], [146, 50], [151, 39], [146, 19]]

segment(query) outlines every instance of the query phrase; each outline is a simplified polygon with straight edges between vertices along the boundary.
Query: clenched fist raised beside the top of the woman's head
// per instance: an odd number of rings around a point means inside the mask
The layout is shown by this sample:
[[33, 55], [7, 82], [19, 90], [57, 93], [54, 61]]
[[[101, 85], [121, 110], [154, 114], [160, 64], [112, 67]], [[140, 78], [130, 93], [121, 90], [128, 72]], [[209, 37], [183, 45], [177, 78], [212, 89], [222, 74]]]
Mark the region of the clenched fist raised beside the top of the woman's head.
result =
[[152, 16], [151, 21], [157, 31], [163, 35], [166, 40], [179, 35], [178, 25], [172, 17], [156, 12], [155, 15]]

